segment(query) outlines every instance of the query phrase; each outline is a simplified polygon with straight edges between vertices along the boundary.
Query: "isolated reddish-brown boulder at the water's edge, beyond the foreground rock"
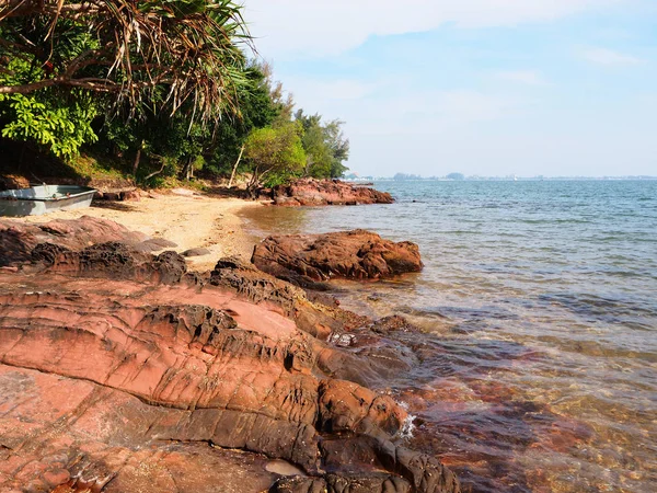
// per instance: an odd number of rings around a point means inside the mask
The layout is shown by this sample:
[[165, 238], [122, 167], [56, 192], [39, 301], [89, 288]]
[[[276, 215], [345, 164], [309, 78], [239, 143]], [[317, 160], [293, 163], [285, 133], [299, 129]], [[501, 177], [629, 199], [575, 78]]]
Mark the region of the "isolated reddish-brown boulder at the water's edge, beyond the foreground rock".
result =
[[255, 246], [251, 262], [276, 277], [300, 277], [301, 283], [380, 279], [423, 267], [415, 243], [394, 243], [365, 230], [269, 237]]

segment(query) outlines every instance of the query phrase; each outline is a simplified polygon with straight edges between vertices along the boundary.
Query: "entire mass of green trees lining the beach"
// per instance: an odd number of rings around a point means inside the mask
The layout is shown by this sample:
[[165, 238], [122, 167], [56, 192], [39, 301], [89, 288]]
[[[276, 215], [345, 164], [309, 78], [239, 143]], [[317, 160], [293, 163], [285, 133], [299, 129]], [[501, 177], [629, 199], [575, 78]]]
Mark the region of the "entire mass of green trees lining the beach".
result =
[[250, 59], [242, 8], [218, 0], [0, 0], [0, 135], [64, 161], [81, 152], [137, 182], [336, 177], [339, 121], [295, 111]]

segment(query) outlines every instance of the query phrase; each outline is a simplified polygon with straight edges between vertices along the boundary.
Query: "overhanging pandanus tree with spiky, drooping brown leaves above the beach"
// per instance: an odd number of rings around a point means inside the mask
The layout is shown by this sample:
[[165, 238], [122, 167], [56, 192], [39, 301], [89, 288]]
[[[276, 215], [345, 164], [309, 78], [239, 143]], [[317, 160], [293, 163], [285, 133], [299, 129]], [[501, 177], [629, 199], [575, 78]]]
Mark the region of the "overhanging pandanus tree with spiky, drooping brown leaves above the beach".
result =
[[0, 0], [1, 54], [32, 70], [0, 93], [82, 88], [137, 103], [165, 85], [172, 110], [194, 101], [199, 116], [234, 101], [249, 39], [229, 0]]

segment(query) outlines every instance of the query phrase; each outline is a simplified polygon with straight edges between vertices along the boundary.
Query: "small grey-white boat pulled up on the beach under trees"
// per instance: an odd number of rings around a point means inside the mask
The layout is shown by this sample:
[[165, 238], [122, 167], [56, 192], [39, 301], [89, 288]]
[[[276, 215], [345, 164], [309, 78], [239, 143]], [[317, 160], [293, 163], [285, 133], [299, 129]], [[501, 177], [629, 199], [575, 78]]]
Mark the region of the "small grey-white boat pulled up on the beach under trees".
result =
[[95, 188], [77, 185], [37, 185], [0, 192], [0, 216], [41, 216], [55, 210], [89, 207]]

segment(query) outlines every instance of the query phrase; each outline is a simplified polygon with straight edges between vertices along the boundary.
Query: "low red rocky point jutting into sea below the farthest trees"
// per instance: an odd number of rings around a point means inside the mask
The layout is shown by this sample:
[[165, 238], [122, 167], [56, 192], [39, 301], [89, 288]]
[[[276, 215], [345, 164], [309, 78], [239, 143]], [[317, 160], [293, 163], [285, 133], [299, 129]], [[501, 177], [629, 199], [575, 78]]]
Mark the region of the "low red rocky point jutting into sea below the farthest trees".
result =
[[[261, 197], [269, 195], [261, 192]], [[339, 180], [301, 179], [289, 185], [278, 185], [270, 191], [270, 198], [279, 206], [323, 206], [392, 204], [389, 193], [374, 188], [355, 186]]]

